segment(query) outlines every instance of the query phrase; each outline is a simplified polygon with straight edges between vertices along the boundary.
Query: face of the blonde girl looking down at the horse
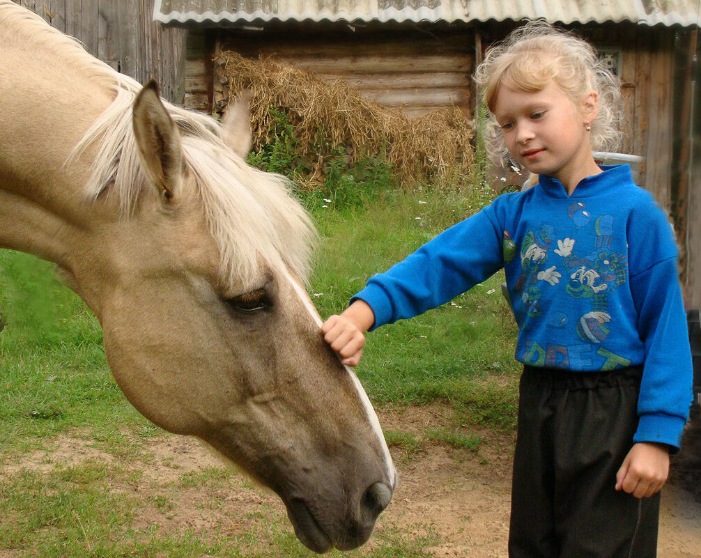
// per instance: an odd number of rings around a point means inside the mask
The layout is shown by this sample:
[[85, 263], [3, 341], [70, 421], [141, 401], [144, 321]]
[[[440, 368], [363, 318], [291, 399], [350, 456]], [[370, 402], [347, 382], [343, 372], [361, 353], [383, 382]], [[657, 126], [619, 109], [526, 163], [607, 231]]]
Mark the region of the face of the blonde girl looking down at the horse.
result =
[[601, 172], [586, 130], [596, 114], [597, 93], [576, 107], [552, 81], [535, 93], [500, 86], [494, 104], [511, 156], [531, 172], [558, 179], [569, 193], [581, 179]]

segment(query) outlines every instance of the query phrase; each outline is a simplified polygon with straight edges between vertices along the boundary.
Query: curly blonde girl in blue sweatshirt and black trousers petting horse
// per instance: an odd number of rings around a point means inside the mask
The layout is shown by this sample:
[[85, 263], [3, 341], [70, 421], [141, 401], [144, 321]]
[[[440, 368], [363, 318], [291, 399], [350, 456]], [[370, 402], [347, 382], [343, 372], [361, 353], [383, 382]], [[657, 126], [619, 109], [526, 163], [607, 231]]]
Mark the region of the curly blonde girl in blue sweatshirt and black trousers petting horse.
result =
[[524, 364], [509, 556], [654, 557], [659, 491], [691, 402], [672, 229], [628, 165], [592, 157], [618, 139], [620, 93], [589, 44], [531, 22], [487, 53], [476, 80], [490, 154], [538, 184], [370, 278], [322, 333], [355, 366], [368, 330], [505, 268]]

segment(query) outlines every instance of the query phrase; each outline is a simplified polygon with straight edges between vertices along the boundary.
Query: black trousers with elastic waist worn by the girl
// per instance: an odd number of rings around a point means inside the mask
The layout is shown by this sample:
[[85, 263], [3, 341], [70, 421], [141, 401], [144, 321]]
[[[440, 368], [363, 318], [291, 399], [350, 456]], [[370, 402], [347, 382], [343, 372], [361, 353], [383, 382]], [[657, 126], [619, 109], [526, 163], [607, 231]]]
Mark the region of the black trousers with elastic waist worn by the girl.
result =
[[641, 367], [578, 373], [526, 366], [510, 558], [654, 558], [660, 495], [615, 490], [633, 445]]

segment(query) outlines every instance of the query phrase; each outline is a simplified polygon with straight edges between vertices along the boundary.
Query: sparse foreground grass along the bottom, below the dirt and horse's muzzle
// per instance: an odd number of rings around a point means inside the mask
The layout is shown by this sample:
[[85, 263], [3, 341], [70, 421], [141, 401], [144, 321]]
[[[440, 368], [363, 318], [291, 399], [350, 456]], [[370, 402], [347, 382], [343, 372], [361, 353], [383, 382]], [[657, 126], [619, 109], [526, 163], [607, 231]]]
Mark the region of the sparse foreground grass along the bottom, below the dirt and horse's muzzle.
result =
[[[164, 528], [143, 525], [144, 510], [155, 508], [164, 522], [177, 519], [175, 497], [184, 489], [204, 493], [210, 501], [222, 501], [236, 478], [231, 472], [205, 470], [197, 478], [145, 491], [135, 488], [126, 466], [86, 461], [76, 466], [56, 466], [49, 472], [21, 470], [0, 477], [0, 551], [13, 557], [118, 558], [199, 557], [310, 558], [285, 515], [260, 505], [252, 514], [252, 529], [245, 533], [191, 527]], [[191, 484], [190, 481], [196, 481]], [[155, 493], [155, 496], [153, 494]], [[211, 508], [211, 506], [210, 506]], [[203, 509], [205, 514], [206, 509]], [[226, 522], [224, 522], [226, 523]], [[140, 526], [135, 526], [140, 525]], [[377, 529], [372, 543], [348, 557], [428, 557], [423, 548], [435, 541], [430, 529], [422, 536], [407, 535], [393, 524]], [[261, 541], [264, 544], [261, 545]], [[340, 557], [341, 552], [331, 552]]]

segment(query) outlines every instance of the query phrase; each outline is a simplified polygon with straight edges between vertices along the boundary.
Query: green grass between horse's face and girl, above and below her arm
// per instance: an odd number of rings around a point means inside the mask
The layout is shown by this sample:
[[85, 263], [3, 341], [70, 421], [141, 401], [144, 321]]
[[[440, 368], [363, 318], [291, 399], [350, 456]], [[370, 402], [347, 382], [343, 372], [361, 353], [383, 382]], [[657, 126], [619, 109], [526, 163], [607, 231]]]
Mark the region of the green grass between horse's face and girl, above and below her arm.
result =
[[[485, 201], [459, 192], [395, 191], [362, 210], [313, 206], [323, 249], [312, 288], [322, 316], [343, 311], [371, 275]], [[462, 421], [512, 428], [519, 366], [513, 358], [516, 326], [501, 296], [502, 282], [498, 273], [449, 304], [369, 333], [358, 374], [371, 399], [447, 402]]]

